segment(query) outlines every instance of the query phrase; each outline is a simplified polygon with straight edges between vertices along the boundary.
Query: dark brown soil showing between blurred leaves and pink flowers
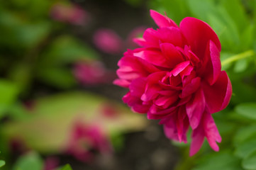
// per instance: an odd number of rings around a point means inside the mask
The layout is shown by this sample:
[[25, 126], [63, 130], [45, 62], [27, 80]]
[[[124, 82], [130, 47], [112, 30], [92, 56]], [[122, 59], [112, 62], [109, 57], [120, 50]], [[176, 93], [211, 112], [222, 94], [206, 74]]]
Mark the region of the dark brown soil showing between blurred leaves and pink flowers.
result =
[[[92, 47], [95, 47], [92, 36], [98, 28], [111, 28], [125, 40], [133, 28], [138, 26], [155, 27], [145, 2], [139, 7], [134, 7], [121, 0], [73, 1], [90, 13], [91, 22], [84, 28], [72, 27], [69, 31]], [[117, 62], [122, 54], [108, 55], [103, 52], [100, 54], [108, 69], [116, 70], [118, 68]], [[127, 89], [113, 84], [83, 87], [83, 89], [116, 101], [121, 101], [122, 96], [127, 92]], [[113, 155], [96, 154], [94, 162], [89, 164], [78, 162], [72, 157], [61, 156], [60, 164], [68, 163], [74, 170], [171, 170], [179, 159], [178, 150], [165, 137], [162, 125], [158, 125], [158, 121], [149, 121], [150, 125], [144, 132], [124, 134], [123, 148]]]

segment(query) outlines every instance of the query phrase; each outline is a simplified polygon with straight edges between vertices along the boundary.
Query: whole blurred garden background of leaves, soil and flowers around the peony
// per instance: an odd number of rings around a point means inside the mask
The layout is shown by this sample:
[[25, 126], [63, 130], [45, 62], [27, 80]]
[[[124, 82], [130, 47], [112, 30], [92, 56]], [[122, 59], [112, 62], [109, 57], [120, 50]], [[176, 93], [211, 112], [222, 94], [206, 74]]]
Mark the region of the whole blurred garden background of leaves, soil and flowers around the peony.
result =
[[[157, 28], [150, 8], [206, 21], [221, 40], [233, 96], [213, 115], [220, 152], [205, 143], [189, 157], [190, 141], [169, 141], [112, 84], [133, 38]], [[256, 169], [255, 9], [255, 0], [0, 0], [0, 169]]]

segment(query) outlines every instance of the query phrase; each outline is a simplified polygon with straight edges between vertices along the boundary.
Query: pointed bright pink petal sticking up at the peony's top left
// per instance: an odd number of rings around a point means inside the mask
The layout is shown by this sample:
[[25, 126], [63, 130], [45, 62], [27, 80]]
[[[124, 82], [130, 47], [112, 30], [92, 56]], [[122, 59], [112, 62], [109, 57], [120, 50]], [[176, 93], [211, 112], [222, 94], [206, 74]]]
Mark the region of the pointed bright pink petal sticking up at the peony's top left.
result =
[[157, 26], [161, 27], [169, 27], [169, 26], [174, 26], [178, 27], [174, 21], [169, 19], [167, 16], [162, 16], [162, 14], [158, 13], [157, 11], [150, 10], [150, 16], [153, 18]]

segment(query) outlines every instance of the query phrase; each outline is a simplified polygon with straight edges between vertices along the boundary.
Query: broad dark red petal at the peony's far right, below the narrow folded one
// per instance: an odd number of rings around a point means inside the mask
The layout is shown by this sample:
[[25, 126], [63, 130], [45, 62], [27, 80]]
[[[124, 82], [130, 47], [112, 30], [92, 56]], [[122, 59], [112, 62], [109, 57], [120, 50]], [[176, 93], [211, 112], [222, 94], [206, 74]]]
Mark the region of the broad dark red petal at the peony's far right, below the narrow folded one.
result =
[[232, 86], [225, 71], [221, 72], [212, 86], [204, 81], [202, 89], [206, 98], [206, 107], [210, 113], [216, 113], [228, 106], [232, 94]]

